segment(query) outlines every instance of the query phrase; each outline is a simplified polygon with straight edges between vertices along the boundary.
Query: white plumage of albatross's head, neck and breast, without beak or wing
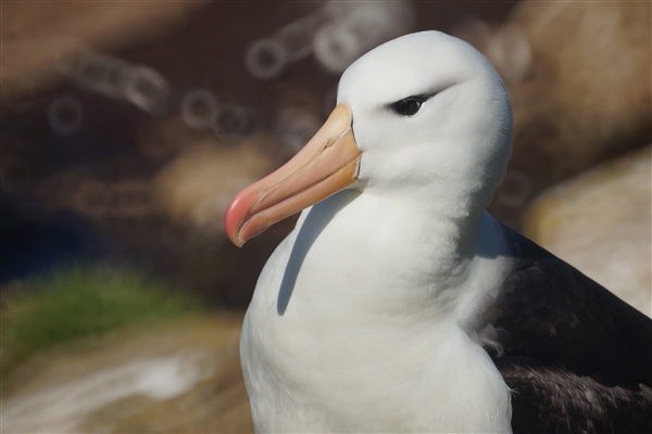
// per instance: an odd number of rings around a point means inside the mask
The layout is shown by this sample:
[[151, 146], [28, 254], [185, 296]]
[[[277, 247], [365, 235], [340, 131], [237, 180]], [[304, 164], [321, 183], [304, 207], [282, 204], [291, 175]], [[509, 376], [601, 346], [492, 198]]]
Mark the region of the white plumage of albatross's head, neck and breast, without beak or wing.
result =
[[[397, 112], [410, 97], [417, 113]], [[484, 210], [510, 154], [500, 78], [471, 46], [427, 31], [351, 65], [338, 103], [358, 180], [303, 210], [244, 320], [256, 431], [511, 432], [509, 388], [481, 347], [510, 271]]]

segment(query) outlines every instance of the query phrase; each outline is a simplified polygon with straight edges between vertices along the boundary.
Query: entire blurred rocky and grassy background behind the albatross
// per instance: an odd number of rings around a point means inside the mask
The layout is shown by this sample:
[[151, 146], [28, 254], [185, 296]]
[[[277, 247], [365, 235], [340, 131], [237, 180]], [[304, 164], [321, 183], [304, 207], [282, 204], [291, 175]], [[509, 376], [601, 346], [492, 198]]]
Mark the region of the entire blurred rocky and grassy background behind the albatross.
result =
[[490, 212], [651, 315], [651, 5], [2, 2], [3, 432], [248, 432], [239, 328], [294, 219], [237, 248], [369, 49], [436, 29], [514, 111]]

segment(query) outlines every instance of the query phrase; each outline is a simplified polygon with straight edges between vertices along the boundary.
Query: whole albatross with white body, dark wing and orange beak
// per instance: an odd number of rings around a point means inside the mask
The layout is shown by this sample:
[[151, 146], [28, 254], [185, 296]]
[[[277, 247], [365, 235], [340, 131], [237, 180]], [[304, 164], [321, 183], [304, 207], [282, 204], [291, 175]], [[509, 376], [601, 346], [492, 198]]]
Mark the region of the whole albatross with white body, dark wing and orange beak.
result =
[[256, 432], [652, 431], [652, 321], [485, 209], [511, 131], [487, 59], [408, 35], [233, 199], [237, 245], [302, 212], [242, 327]]

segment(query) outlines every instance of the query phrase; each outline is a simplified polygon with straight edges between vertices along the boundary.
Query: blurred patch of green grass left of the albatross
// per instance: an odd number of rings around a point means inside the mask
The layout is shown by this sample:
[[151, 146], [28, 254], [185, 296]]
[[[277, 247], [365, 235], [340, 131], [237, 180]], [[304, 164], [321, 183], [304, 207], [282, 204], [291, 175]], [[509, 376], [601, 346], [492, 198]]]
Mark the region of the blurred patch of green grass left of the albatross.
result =
[[2, 295], [2, 374], [53, 344], [200, 308], [191, 295], [125, 266], [75, 264]]

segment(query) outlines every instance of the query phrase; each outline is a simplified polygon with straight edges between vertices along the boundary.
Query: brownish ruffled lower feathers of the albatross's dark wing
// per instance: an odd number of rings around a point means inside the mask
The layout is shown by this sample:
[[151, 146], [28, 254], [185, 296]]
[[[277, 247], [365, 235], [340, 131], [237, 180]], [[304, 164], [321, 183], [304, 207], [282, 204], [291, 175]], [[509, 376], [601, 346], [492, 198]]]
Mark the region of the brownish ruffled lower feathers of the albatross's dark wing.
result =
[[512, 394], [512, 430], [523, 433], [652, 433], [652, 390], [605, 386], [527, 357], [494, 358]]

